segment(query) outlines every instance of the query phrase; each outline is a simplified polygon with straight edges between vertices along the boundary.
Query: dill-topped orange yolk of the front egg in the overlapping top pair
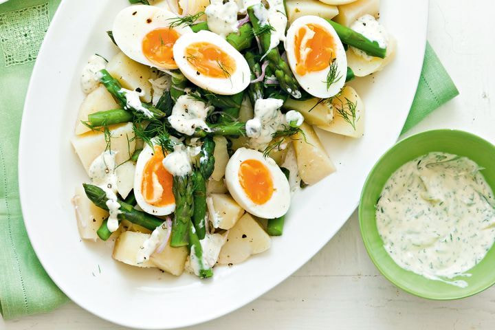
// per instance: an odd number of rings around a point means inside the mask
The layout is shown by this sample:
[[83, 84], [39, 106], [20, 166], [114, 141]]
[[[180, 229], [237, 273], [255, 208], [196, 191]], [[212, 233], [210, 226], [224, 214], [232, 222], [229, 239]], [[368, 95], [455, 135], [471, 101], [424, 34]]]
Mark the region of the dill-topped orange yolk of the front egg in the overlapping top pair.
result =
[[230, 78], [236, 69], [234, 58], [212, 43], [192, 43], [185, 53], [189, 64], [207, 77]]

